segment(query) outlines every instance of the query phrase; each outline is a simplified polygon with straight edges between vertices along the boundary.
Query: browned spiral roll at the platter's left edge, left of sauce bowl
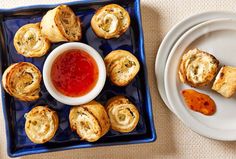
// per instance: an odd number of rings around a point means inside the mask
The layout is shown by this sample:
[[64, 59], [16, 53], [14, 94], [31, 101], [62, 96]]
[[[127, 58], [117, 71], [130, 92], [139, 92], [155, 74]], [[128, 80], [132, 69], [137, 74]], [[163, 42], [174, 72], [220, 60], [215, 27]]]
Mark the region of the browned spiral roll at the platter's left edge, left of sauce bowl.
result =
[[21, 101], [39, 98], [41, 72], [29, 62], [9, 66], [2, 76], [2, 86], [11, 96]]

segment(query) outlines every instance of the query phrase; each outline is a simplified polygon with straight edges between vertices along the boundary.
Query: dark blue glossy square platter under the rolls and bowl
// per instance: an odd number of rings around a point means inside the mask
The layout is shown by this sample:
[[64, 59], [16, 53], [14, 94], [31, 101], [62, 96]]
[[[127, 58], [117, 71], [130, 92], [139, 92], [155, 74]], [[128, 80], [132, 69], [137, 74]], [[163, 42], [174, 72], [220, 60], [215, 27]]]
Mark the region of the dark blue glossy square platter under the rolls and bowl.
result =
[[[105, 40], [98, 38], [90, 27], [90, 20], [95, 11], [106, 4], [116, 3], [123, 6], [130, 14], [131, 25], [118, 39]], [[152, 104], [148, 87], [147, 70], [144, 53], [143, 32], [140, 17], [139, 0], [80, 0], [65, 3], [80, 17], [82, 22], [83, 38], [81, 42], [91, 45], [102, 57], [110, 51], [124, 49], [132, 52], [140, 62], [140, 71], [135, 79], [126, 87], [117, 87], [106, 81], [105, 87], [96, 98], [102, 104], [115, 96], [127, 96], [138, 108], [140, 120], [137, 127], [130, 133], [119, 133], [110, 130], [97, 142], [89, 143], [80, 140], [78, 135], [71, 131], [69, 126], [70, 106], [56, 101], [41, 83], [41, 97], [33, 102], [22, 102], [3, 89], [2, 108], [5, 118], [7, 151], [9, 156], [16, 157], [28, 154], [37, 154], [51, 151], [61, 151], [75, 148], [88, 148], [96, 146], [110, 146], [123, 144], [136, 144], [156, 140], [156, 133], [152, 117]], [[16, 31], [27, 23], [40, 22], [42, 16], [56, 5], [36, 5], [14, 9], [0, 9], [0, 76], [12, 63], [26, 61], [36, 65], [41, 71], [47, 55], [40, 58], [25, 58], [16, 53], [13, 38]], [[62, 43], [53, 44], [51, 50]], [[50, 51], [49, 51], [50, 52]], [[56, 110], [60, 124], [54, 138], [45, 144], [34, 144], [26, 136], [24, 130], [24, 114], [36, 105], [49, 105]]]

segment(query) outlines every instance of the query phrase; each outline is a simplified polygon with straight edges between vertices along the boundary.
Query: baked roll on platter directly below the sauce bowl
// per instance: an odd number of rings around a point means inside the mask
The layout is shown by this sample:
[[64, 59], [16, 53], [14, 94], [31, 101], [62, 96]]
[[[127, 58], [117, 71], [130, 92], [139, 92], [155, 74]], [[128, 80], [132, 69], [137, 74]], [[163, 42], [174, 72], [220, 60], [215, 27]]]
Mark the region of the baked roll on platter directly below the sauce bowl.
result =
[[96, 101], [72, 107], [69, 115], [70, 126], [81, 140], [95, 142], [105, 135], [110, 128], [105, 108]]

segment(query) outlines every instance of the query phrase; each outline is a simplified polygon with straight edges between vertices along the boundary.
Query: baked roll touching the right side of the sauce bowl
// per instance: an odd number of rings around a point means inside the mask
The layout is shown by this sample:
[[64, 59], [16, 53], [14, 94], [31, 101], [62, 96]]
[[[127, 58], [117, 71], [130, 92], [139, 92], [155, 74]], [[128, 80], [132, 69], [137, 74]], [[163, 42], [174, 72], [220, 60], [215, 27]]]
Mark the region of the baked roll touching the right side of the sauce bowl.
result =
[[140, 69], [138, 59], [128, 51], [115, 50], [105, 59], [107, 76], [117, 86], [126, 86]]

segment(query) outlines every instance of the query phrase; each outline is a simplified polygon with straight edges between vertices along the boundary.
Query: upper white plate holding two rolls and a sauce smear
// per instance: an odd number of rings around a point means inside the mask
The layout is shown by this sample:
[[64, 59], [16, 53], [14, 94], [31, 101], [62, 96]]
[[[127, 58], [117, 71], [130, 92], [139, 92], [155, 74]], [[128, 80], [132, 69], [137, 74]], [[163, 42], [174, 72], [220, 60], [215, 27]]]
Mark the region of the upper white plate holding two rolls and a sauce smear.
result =
[[183, 52], [192, 48], [212, 53], [221, 65], [236, 66], [236, 20], [207, 21], [188, 30], [174, 45], [164, 75], [168, 102], [188, 127], [213, 139], [236, 140], [236, 96], [227, 99], [210, 88], [197, 89], [214, 99], [217, 111], [212, 116], [188, 109], [182, 99], [180, 91], [191, 87], [179, 81], [178, 66]]

